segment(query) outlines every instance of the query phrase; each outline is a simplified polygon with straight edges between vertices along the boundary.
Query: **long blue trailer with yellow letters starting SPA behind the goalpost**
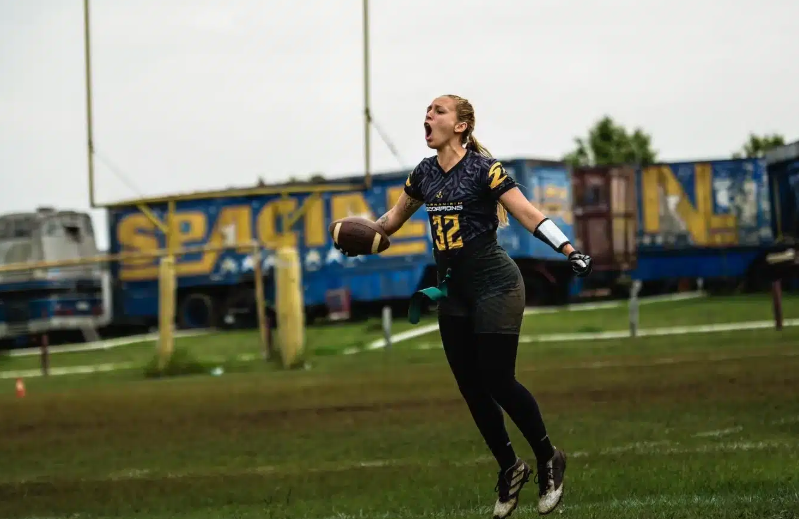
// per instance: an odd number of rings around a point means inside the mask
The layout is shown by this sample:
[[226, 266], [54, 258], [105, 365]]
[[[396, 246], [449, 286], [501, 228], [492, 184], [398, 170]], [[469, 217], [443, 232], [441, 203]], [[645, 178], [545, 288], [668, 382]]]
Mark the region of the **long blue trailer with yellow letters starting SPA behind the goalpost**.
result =
[[[570, 172], [563, 164], [538, 160], [504, 161], [536, 204], [547, 208], [566, 234], [573, 232]], [[392, 245], [375, 256], [348, 258], [333, 248], [328, 224], [344, 216], [376, 218], [403, 191], [409, 172], [373, 176], [366, 191], [310, 192], [299, 194], [237, 194], [193, 196], [177, 200], [177, 244], [238, 244], [258, 240], [267, 299], [273, 293], [273, 252], [282, 230], [284, 212], [307, 202], [304, 216], [289, 229], [302, 261], [304, 303], [312, 319], [325, 311], [327, 296], [346, 289], [353, 307], [375, 303], [406, 302], [420, 287], [435, 282], [432, 241], [427, 214], [420, 209], [399, 232]], [[336, 179], [340, 184], [357, 179]], [[308, 200], [308, 197], [312, 197]], [[167, 205], [150, 208], [164, 220]], [[109, 209], [111, 253], [165, 248], [165, 235], [136, 206]], [[522, 268], [531, 303], [565, 301], [577, 290], [565, 257], [535, 239], [515, 221], [499, 232], [499, 241]], [[179, 327], [208, 327], [231, 323], [235, 315], [254, 309], [253, 260], [250, 251], [224, 250], [177, 257], [177, 323]], [[157, 259], [113, 263], [115, 323], [154, 323], [158, 313]], [[555, 289], [553, 289], [553, 287]], [[546, 289], [545, 289], [546, 288]]]

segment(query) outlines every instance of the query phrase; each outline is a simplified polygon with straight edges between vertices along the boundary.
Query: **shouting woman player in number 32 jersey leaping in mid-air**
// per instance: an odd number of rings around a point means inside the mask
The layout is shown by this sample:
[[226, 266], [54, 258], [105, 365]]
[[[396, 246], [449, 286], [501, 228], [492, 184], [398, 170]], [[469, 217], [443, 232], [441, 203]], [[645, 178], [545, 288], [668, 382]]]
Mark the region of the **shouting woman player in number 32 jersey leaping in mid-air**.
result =
[[510, 212], [534, 236], [566, 255], [576, 275], [588, 275], [592, 260], [574, 249], [475, 139], [475, 109], [469, 101], [454, 95], [436, 98], [427, 107], [424, 129], [427, 146], [436, 155], [416, 166], [399, 200], [376, 223], [390, 236], [426, 205], [439, 283], [447, 279], [447, 296], [439, 301], [444, 352], [499, 462], [494, 517], [511, 514], [531, 473], [511, 446], [503, 409], [535, 453], [538, 509], [550, 513], [563, 493], [566, 454], [552, 445], [538, 403], [515, 378], [525, 288], [519, 267], [497, 242], [497, 228], [507, 225]]

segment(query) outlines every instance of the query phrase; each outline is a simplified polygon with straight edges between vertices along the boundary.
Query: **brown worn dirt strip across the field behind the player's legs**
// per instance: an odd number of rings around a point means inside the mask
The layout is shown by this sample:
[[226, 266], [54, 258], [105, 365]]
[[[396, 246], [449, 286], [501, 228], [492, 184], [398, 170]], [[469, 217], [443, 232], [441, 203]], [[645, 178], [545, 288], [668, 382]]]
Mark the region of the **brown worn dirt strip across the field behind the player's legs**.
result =
[[[622, 359], [617, 359], [621, 361]], [[623, 362], [634, 362], [626, 359]], [[640, 363], [640, 359], [638, 360]], [[651, 364], [651, 363], [650, 363]], [[519, 380], [550, 410], [591, 410], [608, 404], [618, 410], [684, 402], [785, 400], [799, 387], [799, 359], [737, 359], [717, 363], [655, 363], [603, 366], [594, 370], [522, 370]], [[162, 386], [163, 394], [120, 392], [110, 398], [86, 390], [64, 400], [37, 395], [14, 402], [0, 422], [5, 442], [80, 436], [148, 435], [161, 431], [198, 435], [203, 431], [251, 428], [285, 430], [341, 424], [419, 423], [467, 414], [467, 406], [447, 371], [404, 370], [394, 378], [363, 382], [349, 378], [280, 394], [248, 386], [194, 384]], [[7, 412], [6, 412], [7, 411]], [[326, 425], [327, 424], [327, 425]]]

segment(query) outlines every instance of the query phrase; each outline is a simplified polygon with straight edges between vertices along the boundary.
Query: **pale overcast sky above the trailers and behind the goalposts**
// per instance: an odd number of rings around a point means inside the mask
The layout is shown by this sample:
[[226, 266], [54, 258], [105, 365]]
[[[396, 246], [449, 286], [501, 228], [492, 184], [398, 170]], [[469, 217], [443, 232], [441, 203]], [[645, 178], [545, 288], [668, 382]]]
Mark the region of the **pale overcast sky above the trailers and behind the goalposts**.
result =
[[[82, 4], [0, 0], [2, 212], [88, 208]], [[360, 0], [91, 7], [99, 201], [363, 171]], [[372, 0], [372, 113], [403, 160], [373, 132], [373, 168], [431, 154], [443, 93], [495, 156], [559, 158], [605, 113], [663, 160], [799, 139], [797, 19], [793, 0]]]

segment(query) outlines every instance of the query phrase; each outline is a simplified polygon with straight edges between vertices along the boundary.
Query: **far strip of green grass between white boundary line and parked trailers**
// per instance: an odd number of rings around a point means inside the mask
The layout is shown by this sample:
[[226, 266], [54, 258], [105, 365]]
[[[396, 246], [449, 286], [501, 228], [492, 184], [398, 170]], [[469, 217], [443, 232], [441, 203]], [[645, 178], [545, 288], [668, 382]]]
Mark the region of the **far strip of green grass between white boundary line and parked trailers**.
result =
[[[578, 310], [580, 307], [577, 307]], [[799, 318], [799, 297], [787, 297], [783, 302], [785, 319]], [[619, 307], [591, 311], [557, 311], [551, 314], [529, 315], [524, 321], [523, 341], [535, 339], [540, 335], [564, 332], [592, 333], [602, 331], [623, 331], [628, 328], [628, 308], [622, 302]], [[710, 323], [741, 323], [772, 319], [769, 297], [751, 295], [728, 297], [724, 299], [687, 299], [676, 303], [642, 304], [640, 327], [692, 326]], [[426, 316], [417, 325], [423, 327], [435, 323], [432, 316]], [[392, 331], [399, 333], [414, 329], [404, 315], [395, 318]], [[363, 323], [309, 327], [306, 331], [306, 349], [311, 358], [324, 355], [337, 355], [344, 351], [363, 350], [375, 339], [382, 337], [379, 319]], [[202, 335], [177, 339], [178, 347], [189, 348], [197, 357], [209, 362], [229, 363], [237, 370], [248, 369], [252, 359], [261, 355], [258, 338], [250, 331], [225, 334]], [[423, 335], [418, 339], [398, 343], [397, 347], [440, 346], [437, 333]], [[116, 347], [105, 351], [74, 352], [52, 355], [50, 365], [82, 366], [108, 363], [145, 364], [153, 356], [155, 343], [145, 341], [127, 347]], [[558, 348], [562, 347], [558, 346]], [[244, 359], [244, 363], [237, 362]], [[38, 355], [4, 358], [0, 355], [0, 370], [37, 370], [41, 366]]]

